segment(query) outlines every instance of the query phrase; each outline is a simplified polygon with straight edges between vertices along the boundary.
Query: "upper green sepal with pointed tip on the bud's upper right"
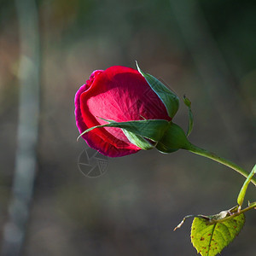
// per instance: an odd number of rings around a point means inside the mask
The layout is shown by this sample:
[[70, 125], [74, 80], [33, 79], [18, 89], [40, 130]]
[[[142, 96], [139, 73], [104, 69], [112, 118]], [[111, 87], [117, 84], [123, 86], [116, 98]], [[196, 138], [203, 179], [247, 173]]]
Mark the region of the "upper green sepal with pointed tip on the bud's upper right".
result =
[[160, 100], [164, 103], [168, 115], [171, 118], [173, 118], [174, 115], [177, 113], [177, 109], [179, 105], [178, 96], [174, 92], [172, 92], [172, 90], [167, 88], [165, 84], [160, 82], [159, 79], [154, 78], [154, 76], [148, 73], [143, 73], [140, 67], [138, 67], [137, 61], [136, 61], [136, 65], [137, 65], [138, 72], [143, 75], [144, 79], [147, 80], [151, 89], [154, 90], [157, 96], [160, 97]]

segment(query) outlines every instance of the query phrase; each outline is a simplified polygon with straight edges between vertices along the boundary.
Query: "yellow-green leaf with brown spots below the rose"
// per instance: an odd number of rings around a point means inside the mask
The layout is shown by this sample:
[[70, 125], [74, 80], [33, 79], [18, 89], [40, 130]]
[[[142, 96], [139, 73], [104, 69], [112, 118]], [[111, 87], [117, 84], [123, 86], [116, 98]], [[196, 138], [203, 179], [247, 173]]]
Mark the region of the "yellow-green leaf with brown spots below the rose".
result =
[[[234, 218], [223, 219], [229, 212], [221, 212], [211, 218], [194, 218], [191, 241], [202, 256], [215, 256], [239, 234], [245, 223], [243, 213]], [[215, 221], [213, 221], [215, 219]]]

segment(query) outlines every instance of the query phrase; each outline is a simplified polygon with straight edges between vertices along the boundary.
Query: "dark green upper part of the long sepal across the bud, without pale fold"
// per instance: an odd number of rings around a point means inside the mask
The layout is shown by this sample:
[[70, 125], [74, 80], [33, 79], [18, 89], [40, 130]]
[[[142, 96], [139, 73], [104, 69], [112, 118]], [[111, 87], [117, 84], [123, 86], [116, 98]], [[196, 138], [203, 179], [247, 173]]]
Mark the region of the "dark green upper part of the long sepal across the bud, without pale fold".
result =
[[128, 121], [128, 122], [115, 122], [113, 120], [107, 120], [109, 124], [106, 125], [96, 125], [82, 132], [79, 137], [84, 135], [84, 133], [92, 131], [96, 128], [101, 127], [116, 127], [121, 128], [125, 131], [129, 131], [134, 133], [139, 137], [145, 137], [153, 142], [158, 142], [161, 137], [164, 136], [166, 129], [168, 128], [169, 122], [164, 119], [145, 119], [145, 120], [137, 120], [137, 121]]

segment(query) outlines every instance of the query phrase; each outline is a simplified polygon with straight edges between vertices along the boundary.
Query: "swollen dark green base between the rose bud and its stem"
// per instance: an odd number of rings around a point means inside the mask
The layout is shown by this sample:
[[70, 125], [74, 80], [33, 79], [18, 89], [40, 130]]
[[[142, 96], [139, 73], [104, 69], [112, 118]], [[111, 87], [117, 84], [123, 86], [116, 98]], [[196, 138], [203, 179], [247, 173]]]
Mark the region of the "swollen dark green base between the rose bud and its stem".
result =
[[181, 127], [170, 122], [164, 137], [160, 139], [156, 147], [161, 153], [172, 153], [180, 148], [188, 149], [189, 141]]

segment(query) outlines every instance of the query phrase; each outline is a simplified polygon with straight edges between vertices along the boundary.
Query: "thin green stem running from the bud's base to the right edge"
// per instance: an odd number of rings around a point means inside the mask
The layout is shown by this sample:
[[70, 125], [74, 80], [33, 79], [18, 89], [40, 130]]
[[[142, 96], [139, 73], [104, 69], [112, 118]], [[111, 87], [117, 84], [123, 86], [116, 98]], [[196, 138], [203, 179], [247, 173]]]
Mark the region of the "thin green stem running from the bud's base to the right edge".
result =
[[[228, 166], [231, 169], [235, 170], [236, 172], [240, 173], [242, 176], [244, 177], [248, 177], [248, 173], [243, 170], [240, 166], [237, 166], [236, 164], [234, 164], [233, 162], [231, 162], [230, 160], [226, 160], [222, 157], [219, 157], [217, 154], [214, 154], [210, 151], [207, 151], [206, 149], [203, 148], [199, 148], [193, 144], [190, 143], [189, 147], [186, 148], [188, 149], [190, 152], [195, 153], [195, 154], [199, 154], [201, 156], [207, 157], [209, 159], [212, 159], [220, 164], [223, 164], [224, 166]], [[251, 182], [256, 186], [256, 179], [253, 177]]]

